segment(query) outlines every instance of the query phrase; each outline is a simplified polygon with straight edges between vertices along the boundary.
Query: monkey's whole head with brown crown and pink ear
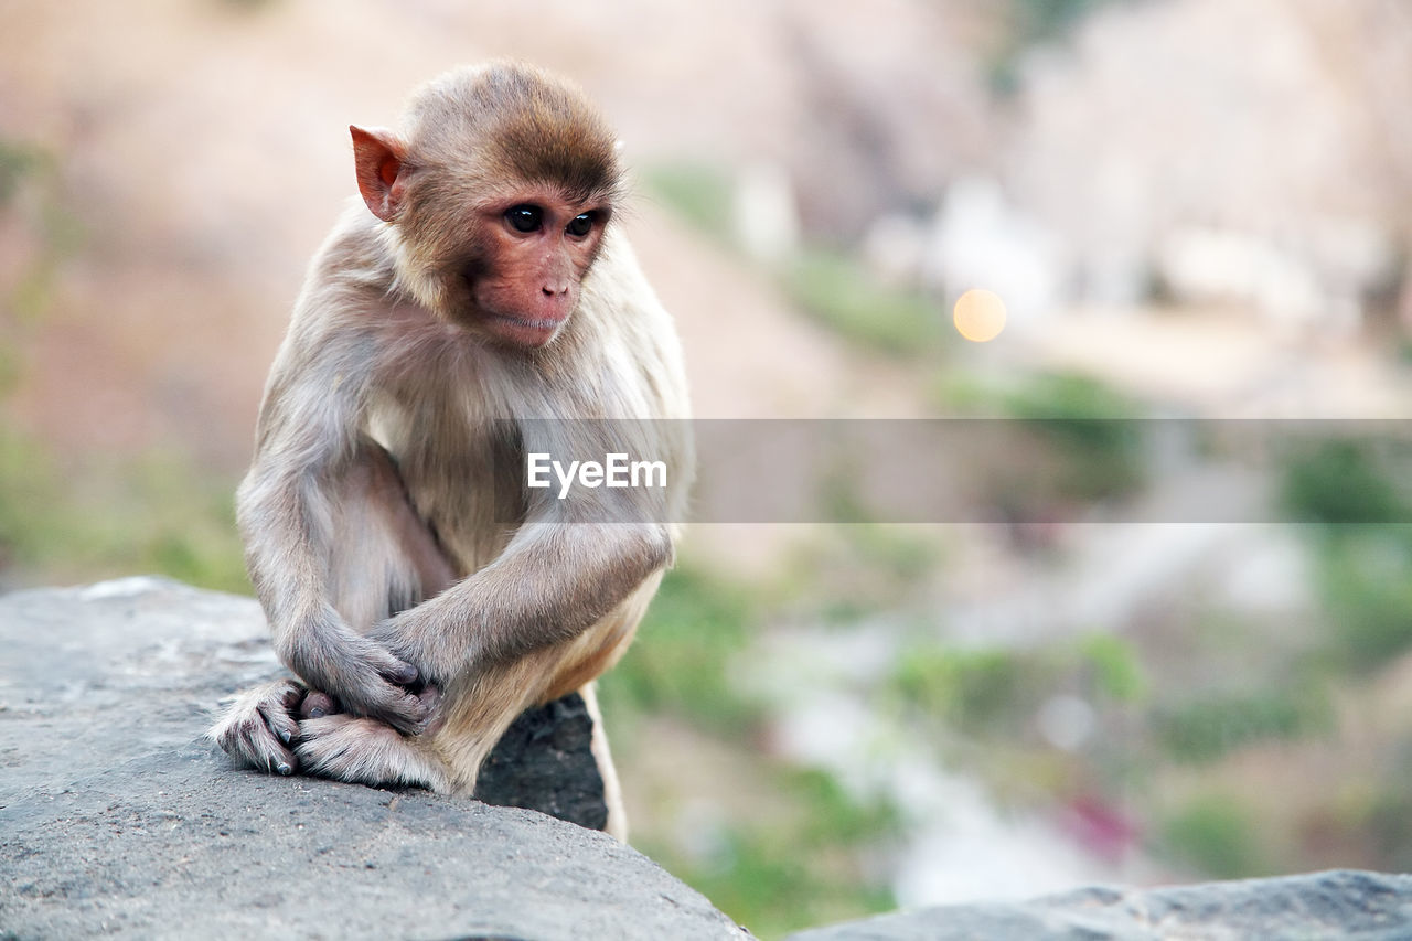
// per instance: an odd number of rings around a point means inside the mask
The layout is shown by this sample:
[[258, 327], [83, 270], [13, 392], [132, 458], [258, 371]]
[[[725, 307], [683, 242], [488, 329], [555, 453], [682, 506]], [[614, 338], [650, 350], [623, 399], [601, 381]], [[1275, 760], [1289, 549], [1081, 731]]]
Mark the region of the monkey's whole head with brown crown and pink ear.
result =
[[583, 93], [497, 62], [425, 86], [405, 136], [349, 130], [398, 284], [498, 345], [549, 343], [578, 307], [621, 187], [613, 134]]

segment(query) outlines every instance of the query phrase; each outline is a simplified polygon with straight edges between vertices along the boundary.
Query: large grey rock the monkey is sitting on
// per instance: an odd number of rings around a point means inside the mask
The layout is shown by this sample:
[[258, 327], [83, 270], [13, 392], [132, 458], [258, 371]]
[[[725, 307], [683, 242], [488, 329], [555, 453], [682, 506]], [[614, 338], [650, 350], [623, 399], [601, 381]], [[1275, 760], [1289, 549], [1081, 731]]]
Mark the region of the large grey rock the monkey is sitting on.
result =
[[[232, 769], [202, 732], [278, 668], [253, 600], [145, 578], [17, 592], [0, 650], [0, 938], [747, 937], [600, 832]], [[555, 709], [522, 738], [576, 753], [592, 726]]]

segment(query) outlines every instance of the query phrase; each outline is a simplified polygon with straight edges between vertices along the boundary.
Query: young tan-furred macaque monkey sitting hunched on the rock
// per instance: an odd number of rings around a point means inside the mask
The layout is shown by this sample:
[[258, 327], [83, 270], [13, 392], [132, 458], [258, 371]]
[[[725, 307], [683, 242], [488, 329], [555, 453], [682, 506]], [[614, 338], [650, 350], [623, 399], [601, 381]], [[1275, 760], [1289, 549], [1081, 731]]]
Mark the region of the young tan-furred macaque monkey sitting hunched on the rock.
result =
[[[692, 445], [657, 420], [688, 414], [681, 352], [580, 92], [466, 68], [401, 133], [350, 130], [363, 199], [311, 264], [237, 495], [304, 682], [246, 692], [212, 735], [281, 774], [470, 794], [525, 708], [593, 708], [671, 564]], [[633, 452], [671, 489], [534, 489], [531, 452]]]

